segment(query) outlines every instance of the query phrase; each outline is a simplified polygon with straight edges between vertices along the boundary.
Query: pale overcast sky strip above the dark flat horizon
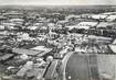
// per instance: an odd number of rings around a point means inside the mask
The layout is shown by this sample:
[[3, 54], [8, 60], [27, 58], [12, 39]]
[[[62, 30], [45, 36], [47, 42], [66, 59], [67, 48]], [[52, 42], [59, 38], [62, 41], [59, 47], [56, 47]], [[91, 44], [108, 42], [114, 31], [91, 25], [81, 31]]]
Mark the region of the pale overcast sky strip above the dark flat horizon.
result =
[[116, 4], [116, 0], [0, 0], [0, 5], [3, 4], [22, 5]]

